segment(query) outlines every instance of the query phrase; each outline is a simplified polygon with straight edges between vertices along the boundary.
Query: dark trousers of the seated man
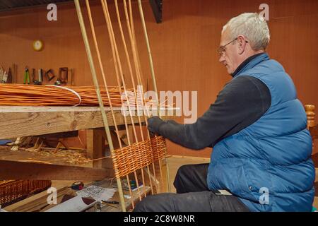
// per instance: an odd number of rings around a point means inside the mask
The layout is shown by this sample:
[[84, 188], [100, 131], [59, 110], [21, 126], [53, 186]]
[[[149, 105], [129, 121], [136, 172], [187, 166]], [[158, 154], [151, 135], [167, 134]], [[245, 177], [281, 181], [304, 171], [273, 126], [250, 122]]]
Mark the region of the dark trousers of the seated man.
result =
[[247, 212], [236, 196], [218, 196], [208, 190], [208, 164], [184, 165], [175, 177], [177, 194], [147, 196], [134, 212]]

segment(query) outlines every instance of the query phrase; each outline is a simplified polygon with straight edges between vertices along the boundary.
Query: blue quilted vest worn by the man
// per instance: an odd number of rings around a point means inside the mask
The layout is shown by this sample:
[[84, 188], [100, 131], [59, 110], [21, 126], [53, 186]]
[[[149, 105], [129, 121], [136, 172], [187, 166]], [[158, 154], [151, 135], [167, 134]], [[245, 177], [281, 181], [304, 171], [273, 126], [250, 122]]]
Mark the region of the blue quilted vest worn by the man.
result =
[[227, 189], [251, 211], [311, 211], [312, 138], [293, 81], [267, 54], [252, 59], [232, 79], [238, 76], [265, 83], [271, 107], [254, 124], [213, 147], [209, 189]]

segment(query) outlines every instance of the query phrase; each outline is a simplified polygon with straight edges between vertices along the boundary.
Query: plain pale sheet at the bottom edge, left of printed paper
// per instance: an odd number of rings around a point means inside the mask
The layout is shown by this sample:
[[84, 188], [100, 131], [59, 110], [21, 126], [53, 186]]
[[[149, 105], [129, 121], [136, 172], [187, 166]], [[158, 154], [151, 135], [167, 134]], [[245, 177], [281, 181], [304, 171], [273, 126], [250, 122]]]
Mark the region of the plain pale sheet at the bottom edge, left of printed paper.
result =
[[90, 205], [87, 205], [83, 202], [83, 198], [81, 196], [75, 196], [74, 198], [71, 198], [68, 201], [65, 201], [64, 203], [61, 203], [57, 206], [54, 206], [53, 208], [50, 208], [45, 212], [81, 212], [90, 208], [91, 206], [94, 206], [96, 202], [97, 201], [90, 203]]

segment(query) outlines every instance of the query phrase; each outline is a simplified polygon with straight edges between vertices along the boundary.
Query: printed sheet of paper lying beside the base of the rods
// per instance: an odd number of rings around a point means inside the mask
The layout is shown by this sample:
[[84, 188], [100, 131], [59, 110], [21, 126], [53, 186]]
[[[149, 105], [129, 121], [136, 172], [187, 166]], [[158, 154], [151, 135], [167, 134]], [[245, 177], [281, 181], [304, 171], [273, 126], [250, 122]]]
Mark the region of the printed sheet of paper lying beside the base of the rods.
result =
[[92, 185], [81, 191], [76, 191], [76, 194], [83, 198], [94, 198], [96, 201], [107, 201], [114, 196], [116, 191], [116, 189], [105, 189], [101, 186]]

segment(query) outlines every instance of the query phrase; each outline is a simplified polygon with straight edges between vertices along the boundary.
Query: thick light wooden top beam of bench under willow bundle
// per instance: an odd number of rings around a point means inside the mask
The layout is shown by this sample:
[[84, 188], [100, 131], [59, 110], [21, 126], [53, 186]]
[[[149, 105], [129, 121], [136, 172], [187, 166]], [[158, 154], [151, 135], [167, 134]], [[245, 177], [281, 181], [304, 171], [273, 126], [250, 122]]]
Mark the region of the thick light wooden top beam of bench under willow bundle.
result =
[[[107, 121], [114, 126], [109, 108]], [[117, 125], [124, 125], [120, 108], [114, 111]], [[168, 118], [168, 117], [167, 117]], [[172, 118], [172, 117], [169, 117]], [[130, 117], [126, 117], [131, 124]], [[138, 117], [133, 117], [134, 124]], [[144, 118], [141, 117], [141, 122]], [[0, 107], [0, 139], [104, 127], [99, 107]]]

